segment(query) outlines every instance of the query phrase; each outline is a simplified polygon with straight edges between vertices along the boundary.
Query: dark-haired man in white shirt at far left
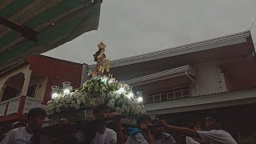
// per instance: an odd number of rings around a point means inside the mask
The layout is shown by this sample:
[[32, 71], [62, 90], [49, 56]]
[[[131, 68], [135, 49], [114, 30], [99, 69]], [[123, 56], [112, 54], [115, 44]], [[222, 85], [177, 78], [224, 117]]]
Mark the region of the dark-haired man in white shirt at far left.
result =
[[27, 114], [28, 125], [10, 130], [1, 144], [39, 144], [40, 134], [38, 131], [42, 127], [46, 115], [46, 110], [40, 107], [31, 109]]

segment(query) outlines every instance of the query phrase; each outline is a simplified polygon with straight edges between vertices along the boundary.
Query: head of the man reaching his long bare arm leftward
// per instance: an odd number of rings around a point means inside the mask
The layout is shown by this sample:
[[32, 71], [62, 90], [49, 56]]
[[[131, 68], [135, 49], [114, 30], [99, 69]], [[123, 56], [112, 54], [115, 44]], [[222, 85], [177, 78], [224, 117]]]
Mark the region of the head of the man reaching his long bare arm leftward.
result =
[[222, 120], [217, 114], [207, 114], [206, 116], [206, 129], [207, 130], [220, 130], [222, 129]]

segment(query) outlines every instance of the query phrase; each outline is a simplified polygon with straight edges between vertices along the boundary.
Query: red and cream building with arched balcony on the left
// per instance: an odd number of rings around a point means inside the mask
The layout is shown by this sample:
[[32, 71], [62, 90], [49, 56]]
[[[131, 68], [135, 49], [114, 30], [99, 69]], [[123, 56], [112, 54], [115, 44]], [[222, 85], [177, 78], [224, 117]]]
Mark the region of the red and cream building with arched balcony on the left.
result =
[[70, 82], [81, 86], [82, 64], [42, 55], [30, 56], [0, 71], [0, 122], [25, 121], [33, 107], [46, 107], [51, 99], [51, 86]]

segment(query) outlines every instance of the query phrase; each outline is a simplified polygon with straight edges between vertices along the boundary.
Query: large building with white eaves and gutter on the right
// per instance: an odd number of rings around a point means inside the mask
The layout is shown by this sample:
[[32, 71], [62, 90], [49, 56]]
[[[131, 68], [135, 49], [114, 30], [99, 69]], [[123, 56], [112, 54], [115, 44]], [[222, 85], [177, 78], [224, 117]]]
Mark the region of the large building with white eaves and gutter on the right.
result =
[[[93, 66], [87, 66], [89, 71]], [[111, 62], [111, 73], [143, 91], [147, 114], [186, 126], [217, 110], [234, 137], [252, 132], [256, 57], [250, 31]], [[239, 112], [239, 113], [238, 113]], [[249, 113], [252, 112], [252, 113]]]

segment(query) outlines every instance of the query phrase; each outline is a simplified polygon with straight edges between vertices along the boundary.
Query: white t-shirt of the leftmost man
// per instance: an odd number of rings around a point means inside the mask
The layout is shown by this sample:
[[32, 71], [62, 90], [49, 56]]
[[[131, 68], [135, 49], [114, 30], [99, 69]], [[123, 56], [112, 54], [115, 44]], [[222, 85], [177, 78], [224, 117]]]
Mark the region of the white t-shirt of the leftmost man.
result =
[[10, 130], [1, 144], [30, 144], [30, 139], [33, 134], [28, 134], [25, 128], [26, 127], [18, 127]]

